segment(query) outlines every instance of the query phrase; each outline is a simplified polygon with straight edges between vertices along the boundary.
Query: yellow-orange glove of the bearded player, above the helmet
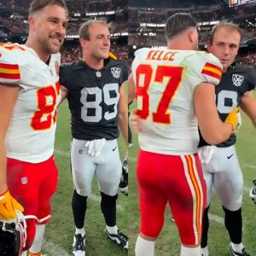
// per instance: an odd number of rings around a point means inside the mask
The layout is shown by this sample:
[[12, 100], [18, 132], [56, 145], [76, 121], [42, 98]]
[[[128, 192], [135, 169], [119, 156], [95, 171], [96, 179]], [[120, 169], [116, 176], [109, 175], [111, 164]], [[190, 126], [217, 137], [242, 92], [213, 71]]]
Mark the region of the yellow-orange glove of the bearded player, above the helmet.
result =
[[8, 221], [16, 218], [17, 214], [15, 210], [23, 212], [24, 208], [9, 194], [9, 190], [7, 190], [0, 195], [0, 220]]

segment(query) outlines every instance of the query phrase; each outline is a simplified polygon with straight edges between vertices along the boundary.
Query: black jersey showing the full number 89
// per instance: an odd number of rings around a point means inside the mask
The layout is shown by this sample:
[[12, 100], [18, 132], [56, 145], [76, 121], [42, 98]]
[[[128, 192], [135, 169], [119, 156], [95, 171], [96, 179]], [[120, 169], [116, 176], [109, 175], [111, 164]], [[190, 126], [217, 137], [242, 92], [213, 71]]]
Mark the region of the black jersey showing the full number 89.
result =
[[74, 138], [90, 141], [119, 137], [119, 88], [127, 79], [124, 61], [108, 59], [100, 70], [81, 60], [61, 65], [60, 84], [68, 90]]

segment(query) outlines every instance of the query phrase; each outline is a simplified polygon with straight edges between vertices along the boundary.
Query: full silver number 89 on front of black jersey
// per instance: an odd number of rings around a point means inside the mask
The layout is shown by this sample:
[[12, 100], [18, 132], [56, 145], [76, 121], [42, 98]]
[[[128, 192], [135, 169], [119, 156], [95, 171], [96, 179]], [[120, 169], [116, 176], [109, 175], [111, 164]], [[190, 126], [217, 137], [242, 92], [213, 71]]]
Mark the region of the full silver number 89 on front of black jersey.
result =
[[[108, 106], [113, 106], [113, 111], [103, 113], [103, 118], [110, 120], [117, 115], [117, 105], [119, 102], [119, 84], [105, 84], [103, 88], [92, 87], [81, 90], [81, 119], [84, 122], [99, 122], [102, 119], [102, 102]], [[93, 114], [91, 114], [93, 113]]]

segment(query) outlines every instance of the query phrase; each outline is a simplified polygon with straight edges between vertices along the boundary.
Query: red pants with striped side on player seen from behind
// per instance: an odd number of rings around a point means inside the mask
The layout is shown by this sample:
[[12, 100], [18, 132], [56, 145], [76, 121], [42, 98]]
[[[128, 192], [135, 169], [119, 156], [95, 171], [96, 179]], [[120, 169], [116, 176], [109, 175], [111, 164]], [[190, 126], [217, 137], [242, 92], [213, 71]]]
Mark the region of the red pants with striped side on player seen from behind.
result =
[[168, 202], [183, 245], [200, 244], [207, 190], [198, 155], [164, 155], [140, 150], [137, 180], [141, 232], [159, 236]]

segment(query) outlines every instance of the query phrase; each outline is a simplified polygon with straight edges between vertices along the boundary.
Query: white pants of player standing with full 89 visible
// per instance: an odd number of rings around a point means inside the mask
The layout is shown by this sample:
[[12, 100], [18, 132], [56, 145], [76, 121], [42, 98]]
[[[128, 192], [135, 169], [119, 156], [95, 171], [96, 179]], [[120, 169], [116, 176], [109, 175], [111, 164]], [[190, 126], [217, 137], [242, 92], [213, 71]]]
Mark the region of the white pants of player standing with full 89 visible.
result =
[[84, 147], [86, 142], [73, 139], [71, 146], [71, 168], [77, 193], [90, 195], [92, 178], [95, 175], [104, 194], [117, 195], [122, 175], [117, 140], [107, 141], [101, 154], [97, 156], [88, 154], [88, 147]]

